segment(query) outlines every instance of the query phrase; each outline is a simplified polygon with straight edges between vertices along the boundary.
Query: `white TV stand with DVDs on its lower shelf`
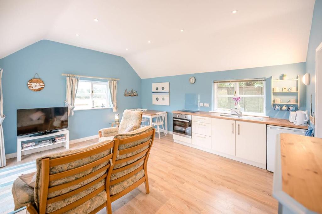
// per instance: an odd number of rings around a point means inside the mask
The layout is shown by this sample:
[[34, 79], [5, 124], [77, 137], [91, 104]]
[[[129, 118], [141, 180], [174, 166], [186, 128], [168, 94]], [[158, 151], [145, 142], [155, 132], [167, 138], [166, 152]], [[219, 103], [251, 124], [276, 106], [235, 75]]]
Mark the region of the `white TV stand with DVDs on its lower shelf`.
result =
[[[66, 142], [49, 143], [46, 145], [35, 145], [34, 147], [28, 147], [25, 149], [21, 148], [21, 143], [23, 141], [32, 141], [32, 140], [40, 139], [40, 138], [55, 137], [55, 136], [63, 135], [63, 134], [65, 135]], [[23, 152], [23, 151], [34, 150], [37, 148], [51, 146], [51, 145], [57, 145], [57, 144], [62, 144], [62, 143], [64, 143], [64, 147], [66, 147], [66, 149], [69, 149], [69, 130], [67, 130], [67, 129], [61, 130], [61, 131], [58, 131], [55, 133], [51, 133], [51, 134], [45, 134], [45, 135], [33, 136], [33, 137], [30, 137], [30, 135], [17, 136], [17, 161], [21, 161], [21, 152]], [[34, 152], [38, 152], [38, 151], [36, 150]], [[28, 152], [28, 153], [34, 153], [34, 152]]]

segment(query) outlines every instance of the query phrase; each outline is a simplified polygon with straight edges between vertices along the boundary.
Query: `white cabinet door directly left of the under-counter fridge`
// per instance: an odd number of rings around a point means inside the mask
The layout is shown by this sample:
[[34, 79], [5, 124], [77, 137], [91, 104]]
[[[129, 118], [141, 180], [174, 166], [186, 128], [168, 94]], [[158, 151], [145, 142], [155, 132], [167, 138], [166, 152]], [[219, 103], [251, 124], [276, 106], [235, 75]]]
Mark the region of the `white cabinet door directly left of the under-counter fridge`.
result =
[[236, 157], [266, 165], [266, 124], [236, 121]]

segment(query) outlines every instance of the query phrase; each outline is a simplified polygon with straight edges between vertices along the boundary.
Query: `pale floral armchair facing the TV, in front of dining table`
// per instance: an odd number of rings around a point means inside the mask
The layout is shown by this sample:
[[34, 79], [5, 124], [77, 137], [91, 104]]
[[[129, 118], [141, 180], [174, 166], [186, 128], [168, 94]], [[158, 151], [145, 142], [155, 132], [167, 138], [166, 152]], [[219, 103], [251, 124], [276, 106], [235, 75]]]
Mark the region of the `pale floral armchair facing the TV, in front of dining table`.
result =
[[122, 120], [118, 127], [110, 127], [99, 130], [99, 142], [113, 140], [115, 135], [124, 133], [127, 127], [130, 125], [133, 125], [133, 130], [140, 128], [141, 120], [142, 111], [131, 111], [125, 109]]

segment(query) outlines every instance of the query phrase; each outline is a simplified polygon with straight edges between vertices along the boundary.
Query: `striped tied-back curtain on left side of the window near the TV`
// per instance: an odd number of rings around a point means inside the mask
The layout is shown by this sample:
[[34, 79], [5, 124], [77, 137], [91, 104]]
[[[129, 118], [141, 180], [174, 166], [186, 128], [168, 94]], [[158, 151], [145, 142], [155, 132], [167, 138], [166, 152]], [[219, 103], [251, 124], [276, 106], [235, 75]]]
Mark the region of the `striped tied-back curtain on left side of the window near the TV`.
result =
[[75, 108], [75, 98], [78, 87], [79, 77], [66, 77], [66, 100], [65, 106], [68, 106], [68, 116], [73, 116]]

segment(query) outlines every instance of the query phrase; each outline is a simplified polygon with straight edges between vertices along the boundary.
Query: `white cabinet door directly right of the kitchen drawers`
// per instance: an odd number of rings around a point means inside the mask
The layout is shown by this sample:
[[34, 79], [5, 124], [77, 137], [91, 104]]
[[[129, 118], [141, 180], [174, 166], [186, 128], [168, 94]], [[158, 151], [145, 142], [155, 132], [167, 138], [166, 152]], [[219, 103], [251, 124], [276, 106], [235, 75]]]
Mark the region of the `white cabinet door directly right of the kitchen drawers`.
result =
[[211, 149], [235, 155], [235, 121], [211, 119]]

